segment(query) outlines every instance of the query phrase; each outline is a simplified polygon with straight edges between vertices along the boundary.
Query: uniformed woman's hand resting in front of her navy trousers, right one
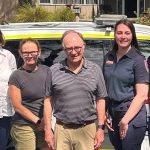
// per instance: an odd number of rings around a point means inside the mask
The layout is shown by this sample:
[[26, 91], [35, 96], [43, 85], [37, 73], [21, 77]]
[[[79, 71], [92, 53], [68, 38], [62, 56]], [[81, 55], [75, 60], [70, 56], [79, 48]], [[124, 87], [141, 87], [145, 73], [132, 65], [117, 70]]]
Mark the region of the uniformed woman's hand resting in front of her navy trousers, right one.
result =
[[119, 122], [119, 134], [120, 134], [120, 139], [124, 139], [126, 137], [128, 131], [128, 124], [125, 123], [125, 121], [122, 119]]

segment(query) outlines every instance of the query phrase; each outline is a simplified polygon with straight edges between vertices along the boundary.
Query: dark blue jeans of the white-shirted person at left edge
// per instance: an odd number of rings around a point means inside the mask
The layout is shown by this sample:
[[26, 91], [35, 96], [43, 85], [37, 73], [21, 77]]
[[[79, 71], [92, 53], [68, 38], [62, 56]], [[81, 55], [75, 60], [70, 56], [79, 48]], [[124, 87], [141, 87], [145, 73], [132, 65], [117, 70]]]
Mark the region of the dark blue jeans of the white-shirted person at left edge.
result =
[[0, 150], [6, 150], [10, 135], [11, 117], [0, 118]]

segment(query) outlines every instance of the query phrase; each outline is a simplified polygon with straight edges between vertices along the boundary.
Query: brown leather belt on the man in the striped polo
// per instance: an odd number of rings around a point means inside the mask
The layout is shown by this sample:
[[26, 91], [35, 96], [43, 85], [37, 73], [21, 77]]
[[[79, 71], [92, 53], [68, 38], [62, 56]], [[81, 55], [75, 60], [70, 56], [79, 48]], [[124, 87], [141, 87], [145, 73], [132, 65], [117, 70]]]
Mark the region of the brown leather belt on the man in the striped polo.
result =
[[95, 122], [95, 120], [90, 120], [90, 121], [85, 121], [83, 124], [74, 124], [74, 123], [65, 124], [60, 120], [56, 120], [57, 124], [62, 125], [65, 128], [81, 128], [81, 127], [84, 127], [86, 125], [92, 124], [94, 122]]

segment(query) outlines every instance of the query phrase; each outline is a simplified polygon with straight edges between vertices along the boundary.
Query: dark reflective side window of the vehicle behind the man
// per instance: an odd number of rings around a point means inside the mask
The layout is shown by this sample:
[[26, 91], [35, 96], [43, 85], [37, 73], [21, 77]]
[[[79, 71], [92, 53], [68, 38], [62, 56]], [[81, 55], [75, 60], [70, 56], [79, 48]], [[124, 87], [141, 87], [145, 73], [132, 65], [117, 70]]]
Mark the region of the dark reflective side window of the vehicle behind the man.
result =
[[[60, 40], [38, 40], [41, 45], [41, 56], [39, 57], [39, 63], [45, 64], [47, 66], [51, 66], [54, 63], [60, 62], [65, 59], [66, 55], [61, 48]], [[7, 41], [5, 44], [6, 49], [10, 50], [16, 57], [17, 66], [20, 67], [23, 63], [23, 60], [19, 57], [18, 48], [19, 48], [19, 40], [16, 41]], [[107, 49], [110, 47], [108, 41], [96, 39], [96, 40], [85, 40], [86, 42], [86, 50], [85, 57], [88, 60], [91, 60], [98, 65], [102, 66], [103, 64], [103, 56], [105, 54], [104, 51], [107, 52]], [[105, 43], [105, 44], [104, 44]], [[107, 43], [107, 44], [106, 44]]]

